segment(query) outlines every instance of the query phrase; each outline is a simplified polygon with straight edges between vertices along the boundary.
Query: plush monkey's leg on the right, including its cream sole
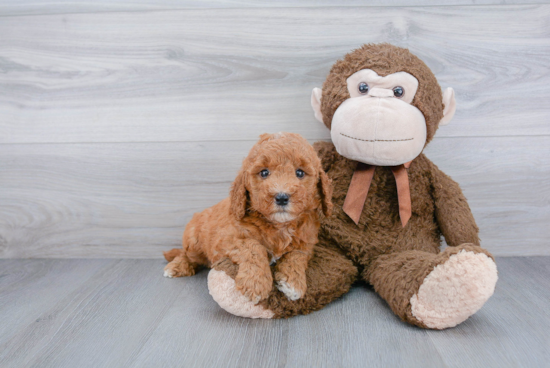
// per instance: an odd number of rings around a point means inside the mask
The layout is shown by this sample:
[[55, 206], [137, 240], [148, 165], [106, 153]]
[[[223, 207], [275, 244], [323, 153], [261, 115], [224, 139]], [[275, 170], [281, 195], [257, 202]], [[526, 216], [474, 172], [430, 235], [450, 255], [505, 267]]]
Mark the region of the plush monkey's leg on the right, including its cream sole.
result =
[[439, 254], [382, 255], [365, 276], [403, 321], [433, 329], [454, 327], [477, 312], [498, 278], [492, 255], [473, 244]]

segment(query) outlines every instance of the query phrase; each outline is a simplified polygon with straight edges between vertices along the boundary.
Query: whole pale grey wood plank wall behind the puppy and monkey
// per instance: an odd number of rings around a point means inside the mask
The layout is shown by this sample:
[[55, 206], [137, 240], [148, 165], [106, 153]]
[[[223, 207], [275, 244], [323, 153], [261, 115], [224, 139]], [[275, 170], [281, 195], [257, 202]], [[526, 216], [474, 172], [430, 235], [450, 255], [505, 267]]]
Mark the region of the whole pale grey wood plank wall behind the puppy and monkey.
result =
[[179, 246], [260, 133], [329, 139], [311, 89], [368, 42], [410, 48], [455, 88], [426, 151], [483, 246], [550, 255], [550, 4], [473, 3], [2, 2], [0, 257]]

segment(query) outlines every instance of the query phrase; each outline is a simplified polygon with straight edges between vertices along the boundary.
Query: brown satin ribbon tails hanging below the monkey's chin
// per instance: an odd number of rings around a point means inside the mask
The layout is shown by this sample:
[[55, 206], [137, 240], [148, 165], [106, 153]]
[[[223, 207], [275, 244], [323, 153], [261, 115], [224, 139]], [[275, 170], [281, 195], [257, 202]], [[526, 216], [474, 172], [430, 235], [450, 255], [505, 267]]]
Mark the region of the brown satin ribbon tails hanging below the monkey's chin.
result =
[[[391, 171], [397, 184], [397, 197], [399, 199], [399, 217], [403, 227], [411, 218], [411, 192], [409, 188], [409, 175], [407, 169], [411, 166], [409, 161], [403, 165], [391, 166]], [[348, 193], [342, 207], [344, 212], [355, 222], [359, 224], [359, 218], [363, 212], [363, 206], [367, 200], [370, 184], [374, 176], [376, 166], [367, 165], [362, 162], [357, 163], [357, 168], [351, 178]]]

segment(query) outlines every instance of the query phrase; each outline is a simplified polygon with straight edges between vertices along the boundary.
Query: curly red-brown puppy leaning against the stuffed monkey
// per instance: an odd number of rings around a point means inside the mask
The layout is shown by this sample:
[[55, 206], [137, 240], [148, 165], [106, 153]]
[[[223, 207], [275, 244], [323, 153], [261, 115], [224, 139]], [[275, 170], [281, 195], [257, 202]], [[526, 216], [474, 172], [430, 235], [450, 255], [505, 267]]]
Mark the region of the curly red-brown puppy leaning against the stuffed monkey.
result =
[[319, 216], [330, 216], [332, 186], [313, 147], [299, 134], [263, 134], [252, 147], [229, 198], [196, 213], [183, 249], [164, 252], [165, 277], [191, 276], [223, 258], [239, 266], [235, 285], [258, 303], [273, 287], [288, 299], [306, 292], [306, 268]]

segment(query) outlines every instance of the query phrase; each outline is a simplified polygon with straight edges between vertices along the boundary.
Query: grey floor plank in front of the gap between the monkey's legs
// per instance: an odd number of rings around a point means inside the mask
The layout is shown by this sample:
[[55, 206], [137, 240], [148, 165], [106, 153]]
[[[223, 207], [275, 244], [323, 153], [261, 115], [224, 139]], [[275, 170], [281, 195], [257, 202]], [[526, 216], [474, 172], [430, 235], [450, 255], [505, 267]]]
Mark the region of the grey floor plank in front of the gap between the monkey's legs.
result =
[[[443, 367], [425, 330], [402, 323], [373, 289], [289, 320], [290, 367]], [[376, 331], [376, 332], [375, 332]]]

